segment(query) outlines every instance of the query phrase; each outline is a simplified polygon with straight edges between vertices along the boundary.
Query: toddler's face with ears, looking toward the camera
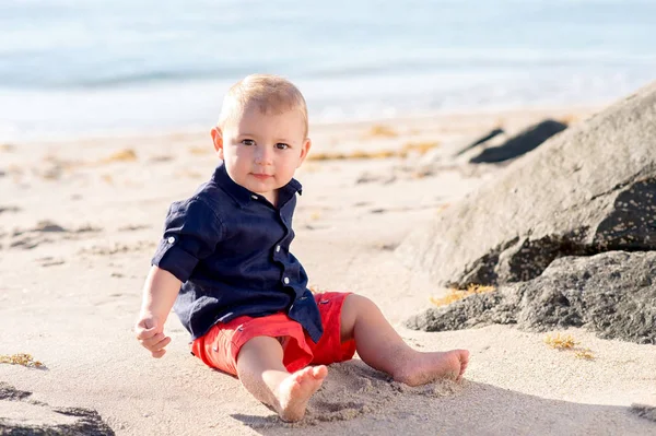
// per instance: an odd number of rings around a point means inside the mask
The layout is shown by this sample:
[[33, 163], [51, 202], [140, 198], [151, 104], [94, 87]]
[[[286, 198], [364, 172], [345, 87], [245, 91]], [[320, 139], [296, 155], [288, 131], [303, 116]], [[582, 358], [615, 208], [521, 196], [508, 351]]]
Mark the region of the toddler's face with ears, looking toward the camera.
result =
[[230, 177], [272, 204], [311, 146], [300, 110], [276, 115], [258, 107], [246, 107], [223, 130], [212, 129], [212, 140]]

